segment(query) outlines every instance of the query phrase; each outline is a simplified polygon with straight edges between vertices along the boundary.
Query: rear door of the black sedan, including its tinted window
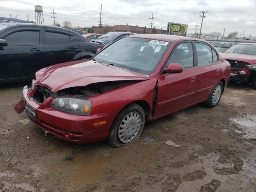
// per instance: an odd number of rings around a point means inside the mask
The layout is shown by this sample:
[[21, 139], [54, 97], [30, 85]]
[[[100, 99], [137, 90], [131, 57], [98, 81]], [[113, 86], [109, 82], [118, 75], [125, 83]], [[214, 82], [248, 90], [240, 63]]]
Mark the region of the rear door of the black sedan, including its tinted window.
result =
[[66, 30], [44, 28], [45, 67], [80, 58], [78, 36]]

